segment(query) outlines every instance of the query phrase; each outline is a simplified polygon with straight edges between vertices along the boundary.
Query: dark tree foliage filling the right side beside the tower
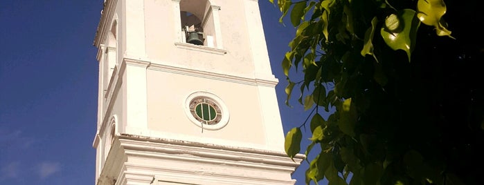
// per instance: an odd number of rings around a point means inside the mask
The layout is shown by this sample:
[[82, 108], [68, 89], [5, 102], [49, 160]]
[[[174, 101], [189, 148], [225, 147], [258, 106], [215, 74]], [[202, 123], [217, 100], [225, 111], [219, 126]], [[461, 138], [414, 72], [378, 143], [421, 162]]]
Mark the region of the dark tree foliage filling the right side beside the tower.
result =
[[285, 149], [301, 152], [301, 130], [312, 135], [306, 155], [321, 148], [306, 184], [484, 184], [484, 47], [474, 29], [484, 19], [476, 1], [446, 2], [277, 1], [280, 22], [297, 28], [282, 62], [286, 102], [298, 87], [312, 110]]

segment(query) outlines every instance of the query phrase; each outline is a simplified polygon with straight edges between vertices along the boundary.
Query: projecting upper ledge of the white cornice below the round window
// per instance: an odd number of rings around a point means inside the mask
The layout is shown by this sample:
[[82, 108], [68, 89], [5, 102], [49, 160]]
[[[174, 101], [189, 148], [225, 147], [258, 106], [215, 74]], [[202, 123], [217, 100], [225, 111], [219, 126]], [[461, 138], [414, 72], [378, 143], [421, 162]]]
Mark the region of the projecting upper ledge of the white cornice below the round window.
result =
[[[221, 146], [216, 144], [203, 144], [198, 142], [188, 142], [173, 139], [145, 137], [140, 135], [120, 134], [118, 136], [120, 145], [125, 150], [132, 150], [130, 153], [148, 152], [153, 153], [170, 153], [183, 157], [179, 154], [188, 154], [206, 159], [224, 159], [233, 161], [234, 165], [249, 165], [251, 167], [263, 164], [265, 168], [274, 170], [287, 170], [287, 168], [296, 168], [305, 158], [304, 155], [296, 155], [294, 162], [287, 157], [287, 154], [271, 150], [260, 150], [255, 148], [240, 148], [233, 146]], [[185, 156], [186, 157], [186, 156]], [[240, 163], [241, 161], [249, 162]], [[227, 164], [227, 162], [224, 162]], [[267, 166], [271, 165], [271, 166]], [[262, 168], [262, 166], [260, 166]]]

